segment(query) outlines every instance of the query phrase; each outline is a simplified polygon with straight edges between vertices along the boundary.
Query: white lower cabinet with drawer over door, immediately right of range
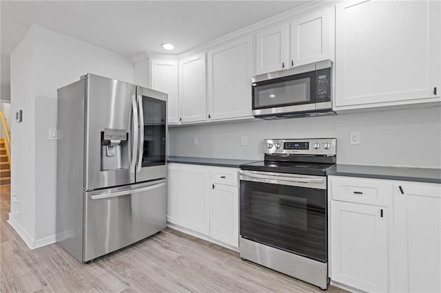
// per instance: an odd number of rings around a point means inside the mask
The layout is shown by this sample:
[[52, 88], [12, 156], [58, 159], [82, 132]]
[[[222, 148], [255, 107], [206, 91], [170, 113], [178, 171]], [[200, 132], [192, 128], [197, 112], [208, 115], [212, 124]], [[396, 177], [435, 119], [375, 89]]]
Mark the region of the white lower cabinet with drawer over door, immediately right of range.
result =
[[331, 279], [366, 292], [389, 291], [392, 184], [329, 176]]

